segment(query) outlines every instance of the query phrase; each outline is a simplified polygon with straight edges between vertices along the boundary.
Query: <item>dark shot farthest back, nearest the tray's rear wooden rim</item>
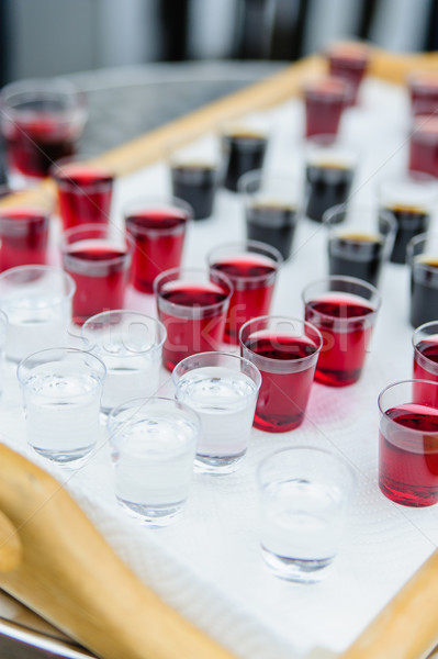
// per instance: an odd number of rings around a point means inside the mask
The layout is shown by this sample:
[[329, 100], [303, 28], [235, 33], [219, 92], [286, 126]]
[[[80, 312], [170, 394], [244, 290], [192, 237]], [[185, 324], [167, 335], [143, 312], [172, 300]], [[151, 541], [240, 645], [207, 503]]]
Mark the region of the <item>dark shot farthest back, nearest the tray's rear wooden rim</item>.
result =
[[263, 122], [243, 119], [225, 122], [221, 127], [224, 161], [223, 186], [237, 192], [238, 180], [247, 171], [262, 169], [269, 143]]

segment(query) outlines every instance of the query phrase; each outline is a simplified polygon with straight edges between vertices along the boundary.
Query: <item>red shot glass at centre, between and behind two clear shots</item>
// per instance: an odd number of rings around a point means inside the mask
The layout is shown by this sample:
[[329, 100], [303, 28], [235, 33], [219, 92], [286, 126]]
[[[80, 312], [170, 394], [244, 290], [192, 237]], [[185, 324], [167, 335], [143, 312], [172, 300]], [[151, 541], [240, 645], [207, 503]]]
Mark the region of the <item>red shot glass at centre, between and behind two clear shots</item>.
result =
[[158, 317], [167, 331], [162, 362], [168, 370], [190, 355], [220, 350], [233, 284], [221, 272], [173, 268], [154, 281]]

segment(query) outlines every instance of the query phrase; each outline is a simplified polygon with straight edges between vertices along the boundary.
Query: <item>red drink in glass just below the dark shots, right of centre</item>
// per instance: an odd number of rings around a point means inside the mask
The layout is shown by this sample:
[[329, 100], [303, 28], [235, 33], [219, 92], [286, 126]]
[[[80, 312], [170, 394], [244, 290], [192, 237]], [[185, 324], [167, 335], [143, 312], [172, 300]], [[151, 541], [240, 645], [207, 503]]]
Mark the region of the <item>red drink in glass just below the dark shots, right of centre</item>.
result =
[[363, 298], [327, 293], [305, 305], [305, 320], [323, 335], [315, 380], [346, 387], [360, 378], [371, 338], [375, 310]]

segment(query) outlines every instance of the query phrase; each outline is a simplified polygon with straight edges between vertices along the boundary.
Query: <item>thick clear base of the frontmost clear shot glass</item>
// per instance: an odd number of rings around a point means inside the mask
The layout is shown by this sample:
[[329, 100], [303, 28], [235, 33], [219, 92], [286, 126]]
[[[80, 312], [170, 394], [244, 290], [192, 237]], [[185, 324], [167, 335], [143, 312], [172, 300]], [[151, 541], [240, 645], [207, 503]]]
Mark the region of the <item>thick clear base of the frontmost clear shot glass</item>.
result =
[[333, 556], [318, 559], [302, 559], [278, 556], [261, 546], [266, 565], [276, 577], [297, 583], [317, 583], [332, 571]]

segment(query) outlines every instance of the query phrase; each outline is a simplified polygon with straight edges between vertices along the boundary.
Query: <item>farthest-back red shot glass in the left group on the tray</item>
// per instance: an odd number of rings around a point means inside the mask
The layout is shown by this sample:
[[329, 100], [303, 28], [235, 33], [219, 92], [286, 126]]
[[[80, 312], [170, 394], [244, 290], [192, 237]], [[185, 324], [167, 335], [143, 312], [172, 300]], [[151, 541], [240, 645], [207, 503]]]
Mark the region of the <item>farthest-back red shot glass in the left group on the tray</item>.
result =
[[61, 158], [49, 170], [64, 230], [110, 220], [114, 176], [83, 156]]

